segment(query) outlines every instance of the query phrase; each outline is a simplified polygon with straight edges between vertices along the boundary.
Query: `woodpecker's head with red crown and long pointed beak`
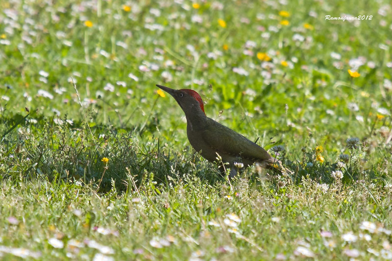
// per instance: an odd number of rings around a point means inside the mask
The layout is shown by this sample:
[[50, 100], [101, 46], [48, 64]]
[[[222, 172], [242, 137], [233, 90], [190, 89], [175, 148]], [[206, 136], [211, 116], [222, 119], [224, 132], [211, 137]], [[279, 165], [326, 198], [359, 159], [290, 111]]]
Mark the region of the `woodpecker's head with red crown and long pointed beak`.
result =
[[180, 105], [181, 109], [184, 111], [185, 115], [187, 115], [188, 113], [197, 112], [202, 112], [205, 115], [203, 100], [201, 99], [200, 95], [194, 90], [174, 90], [158, 84], [156, 86], [161, 88], [168, 94], [172, 95], [177, 101], [178, 105]]

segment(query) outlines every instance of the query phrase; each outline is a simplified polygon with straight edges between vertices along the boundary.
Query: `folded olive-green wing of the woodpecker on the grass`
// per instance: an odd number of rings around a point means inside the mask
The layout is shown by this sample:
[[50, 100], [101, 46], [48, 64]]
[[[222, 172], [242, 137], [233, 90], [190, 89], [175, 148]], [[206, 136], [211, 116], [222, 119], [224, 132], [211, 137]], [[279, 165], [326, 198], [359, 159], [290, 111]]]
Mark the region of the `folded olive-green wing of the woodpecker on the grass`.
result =
[[[240, 156], [249, 160], [268, 161], [271, 155], [262, 147], [221, 123], [208, 118], [209, 124], [202, 131], [202, 139], [218, 153]], [[273, 160], [272, 160], [273, 162]]]

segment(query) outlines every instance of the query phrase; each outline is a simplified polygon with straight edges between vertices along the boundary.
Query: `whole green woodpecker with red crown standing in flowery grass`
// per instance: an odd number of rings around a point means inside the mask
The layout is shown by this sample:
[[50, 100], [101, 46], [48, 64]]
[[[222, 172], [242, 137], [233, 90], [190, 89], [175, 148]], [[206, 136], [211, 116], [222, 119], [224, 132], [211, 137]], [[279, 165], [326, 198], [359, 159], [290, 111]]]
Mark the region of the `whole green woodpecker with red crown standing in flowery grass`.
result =
[[[187, 136], [192, 147], [207, 161], [220, 162], [220, 171], [228, 169], [229, 178], [254, 163], [269, 169], [281, 169], [281, 164], [264, 148], [250, 141], [245, 136], [208, 118], [200, 95], [191, 89], [175, 90], [156, 85], [172, 95], [185, 113]], [[280, 171], [281, 172], [281, 171]]]

